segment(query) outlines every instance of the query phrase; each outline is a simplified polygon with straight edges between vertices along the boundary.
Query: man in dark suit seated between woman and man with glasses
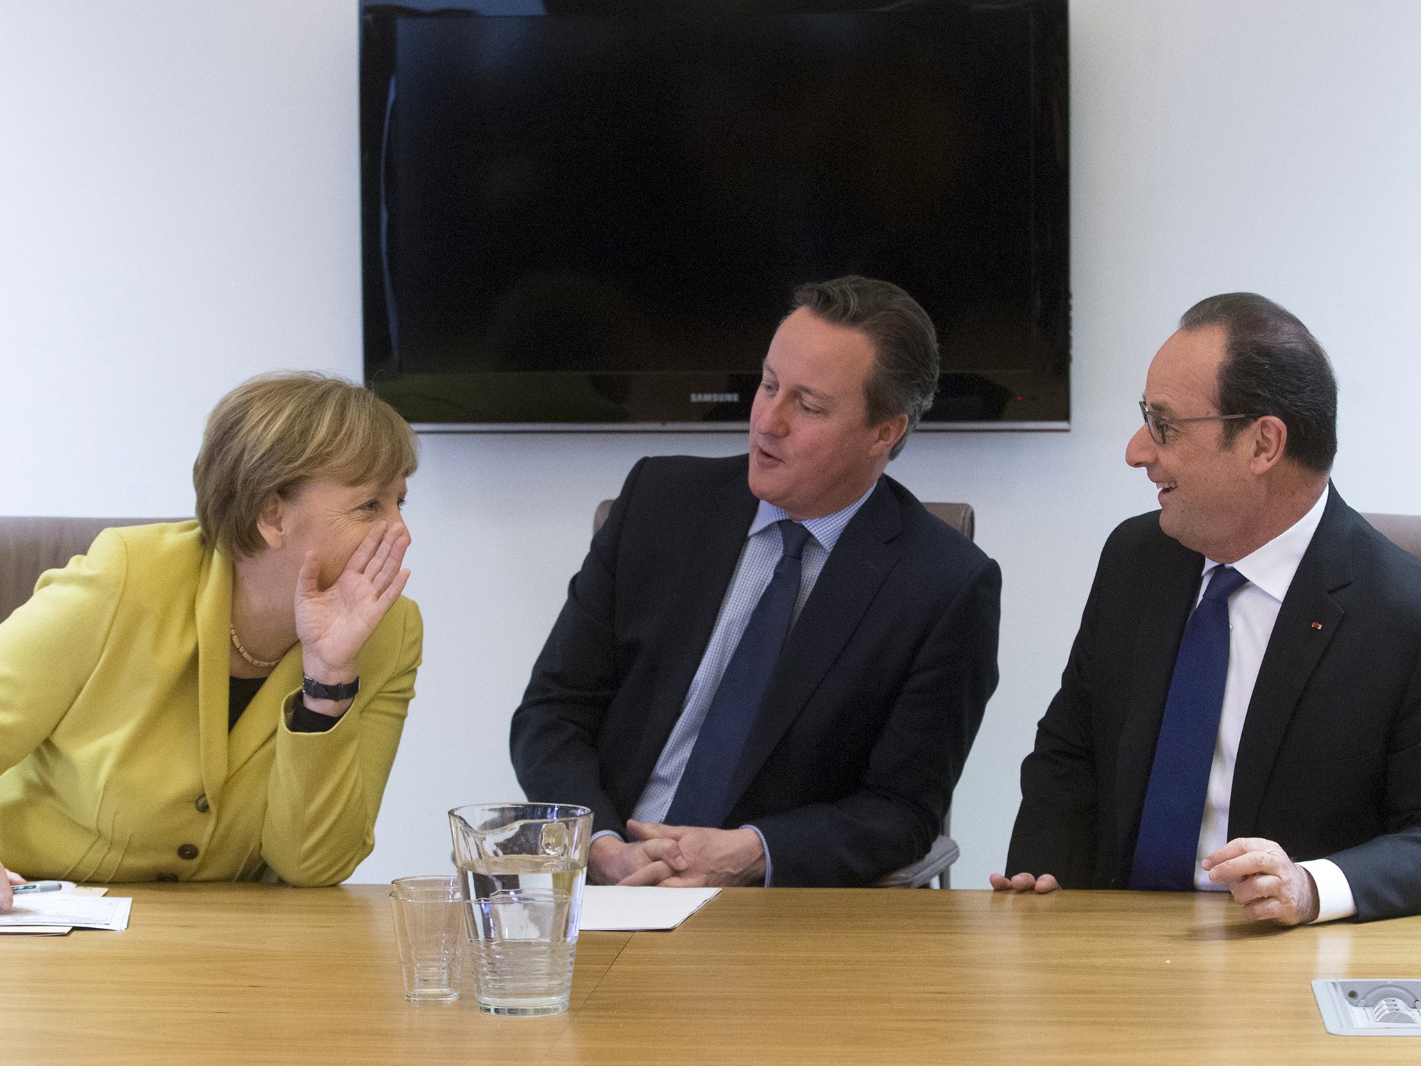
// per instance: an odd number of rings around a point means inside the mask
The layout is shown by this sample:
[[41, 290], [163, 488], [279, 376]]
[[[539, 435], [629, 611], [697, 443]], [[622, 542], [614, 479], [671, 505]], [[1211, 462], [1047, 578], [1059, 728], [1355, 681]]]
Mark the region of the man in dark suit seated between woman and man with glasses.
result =
[[593, 881], [857, 885], [928, 851], [1000, 594], [884, 476], [936, 378], [901, 289], [803, 286], [749, 456], [632, 469], [512, 728], [526, 793], [593, 809]]

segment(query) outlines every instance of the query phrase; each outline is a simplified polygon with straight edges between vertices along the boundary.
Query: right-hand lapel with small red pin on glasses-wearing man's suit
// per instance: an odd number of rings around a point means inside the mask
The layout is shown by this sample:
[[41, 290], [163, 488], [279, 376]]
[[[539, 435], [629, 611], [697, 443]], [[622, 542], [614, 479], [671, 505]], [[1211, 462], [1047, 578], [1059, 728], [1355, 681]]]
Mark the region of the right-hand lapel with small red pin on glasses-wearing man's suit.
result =
[[[1351, 583], [1346, 533], [1353, 510], [1336, 490], [1287, 587], [1253, 682], [1229, 797], [1229, 839], [1255, 836], [1263, 792], [1297, 701], [1343, 618], [1331, 593]], [[1317, 623], [1317, 627], [1314, 627]]]

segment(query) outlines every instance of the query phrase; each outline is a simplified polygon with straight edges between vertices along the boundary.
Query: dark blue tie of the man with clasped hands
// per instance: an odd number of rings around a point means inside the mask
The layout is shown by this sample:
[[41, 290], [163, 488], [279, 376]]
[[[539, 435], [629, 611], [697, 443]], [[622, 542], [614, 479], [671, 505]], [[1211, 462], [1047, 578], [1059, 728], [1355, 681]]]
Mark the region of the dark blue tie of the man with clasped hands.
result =
[[676, 796], [666, 812], [668, 826], [719, 829], [730, 813], [730, 777], [794, 621], [800, 556], [809, 540], [809, 530], [797, 522], [783, 519], [776, 524], [784, 544], [783, 554], [706, 708], [696, 743], [676, 785]]

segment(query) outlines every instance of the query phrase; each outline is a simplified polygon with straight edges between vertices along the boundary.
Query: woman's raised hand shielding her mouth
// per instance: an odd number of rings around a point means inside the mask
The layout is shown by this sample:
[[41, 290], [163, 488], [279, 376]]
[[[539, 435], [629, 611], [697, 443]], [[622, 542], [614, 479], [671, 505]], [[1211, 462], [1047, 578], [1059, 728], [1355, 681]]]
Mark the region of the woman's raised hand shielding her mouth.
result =
[[296, 578], [296, 634], [307, 677], [327, 685], [355, 678], [355, 655], [409, 580], [399, 569], [408, 547], [402, 524], [377, 523], [325, 590], [315, 553], [306, 553]]

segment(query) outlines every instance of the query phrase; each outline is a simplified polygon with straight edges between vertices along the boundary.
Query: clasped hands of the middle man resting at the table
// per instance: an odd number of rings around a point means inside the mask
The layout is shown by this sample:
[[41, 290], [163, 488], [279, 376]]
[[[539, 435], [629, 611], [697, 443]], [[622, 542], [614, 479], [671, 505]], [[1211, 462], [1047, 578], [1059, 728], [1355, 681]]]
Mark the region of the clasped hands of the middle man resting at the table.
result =
[[764, 847], [753, 829], [705, 829], [628, 822], [635, 840], [593, 841], [588, 871], [595, 884], [657, 884], [666, 888], [733, 887], [764, 880]]

